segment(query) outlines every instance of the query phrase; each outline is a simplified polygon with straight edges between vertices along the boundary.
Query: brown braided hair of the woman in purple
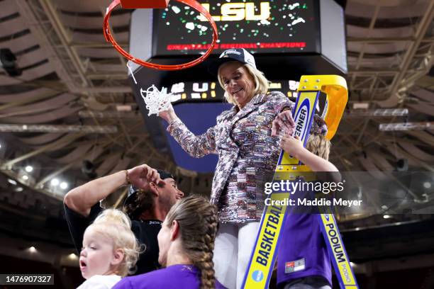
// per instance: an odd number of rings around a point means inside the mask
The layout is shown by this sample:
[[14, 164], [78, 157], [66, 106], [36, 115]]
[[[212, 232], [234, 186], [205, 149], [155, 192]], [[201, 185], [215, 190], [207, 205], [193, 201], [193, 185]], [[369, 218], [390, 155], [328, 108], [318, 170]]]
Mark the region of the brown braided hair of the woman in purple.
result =
[[201, 289], [214, 288], [213, 249], [218, 229], [217, 208], [200, 196], [189, 196], [173, 205], [166, 217], [177, 220], [184, 252], [200, 270]]

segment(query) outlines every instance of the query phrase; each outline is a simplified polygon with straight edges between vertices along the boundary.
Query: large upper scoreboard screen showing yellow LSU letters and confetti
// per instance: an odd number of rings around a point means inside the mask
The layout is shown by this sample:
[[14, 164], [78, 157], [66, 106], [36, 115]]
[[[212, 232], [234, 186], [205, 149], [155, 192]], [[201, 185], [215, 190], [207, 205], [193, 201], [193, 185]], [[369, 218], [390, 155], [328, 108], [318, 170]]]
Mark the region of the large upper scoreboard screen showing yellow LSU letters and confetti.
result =
[[[318, 52], [318, 1], [199, 0], [218, 28], [213, 53], [245, 48], [252, 53]], [[189, 6], [169, 2], [155, 9], [152, 55], [203, 54], [212, 39], [206, 18]]]

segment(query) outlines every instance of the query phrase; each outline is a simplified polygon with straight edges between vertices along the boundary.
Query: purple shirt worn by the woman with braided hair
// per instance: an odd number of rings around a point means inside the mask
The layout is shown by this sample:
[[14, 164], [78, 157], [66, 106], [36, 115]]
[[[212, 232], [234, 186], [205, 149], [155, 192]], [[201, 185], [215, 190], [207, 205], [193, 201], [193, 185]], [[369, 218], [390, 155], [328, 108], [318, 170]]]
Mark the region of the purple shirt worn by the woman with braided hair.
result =
[[[138, 276], [123, 278], [112, 289], [147, 289], [147, 288], [197, 288], [201, 285], [199, 270], [192, 265], [172, 265]], [[216, 280], [216, 289], [225, 289]]]

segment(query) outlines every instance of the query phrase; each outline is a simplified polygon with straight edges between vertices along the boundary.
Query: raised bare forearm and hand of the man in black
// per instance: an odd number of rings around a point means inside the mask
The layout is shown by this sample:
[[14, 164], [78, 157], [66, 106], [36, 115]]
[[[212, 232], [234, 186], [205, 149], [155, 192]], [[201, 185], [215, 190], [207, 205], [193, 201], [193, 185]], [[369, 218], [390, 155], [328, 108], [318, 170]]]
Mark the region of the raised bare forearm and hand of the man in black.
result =
[[73, 188], [65, 195], [63, 203], [74, 212], [87, 217], [92, 206], [119, 187], [128, 184], [128, 181], [138, 188], [145, 188], [151, 181], [158, 183], [161, 179], [157, 170], [152, 169], [147, 164], [142, 164], [133, 169], [118, 171], [115, 174], [103, 176]]

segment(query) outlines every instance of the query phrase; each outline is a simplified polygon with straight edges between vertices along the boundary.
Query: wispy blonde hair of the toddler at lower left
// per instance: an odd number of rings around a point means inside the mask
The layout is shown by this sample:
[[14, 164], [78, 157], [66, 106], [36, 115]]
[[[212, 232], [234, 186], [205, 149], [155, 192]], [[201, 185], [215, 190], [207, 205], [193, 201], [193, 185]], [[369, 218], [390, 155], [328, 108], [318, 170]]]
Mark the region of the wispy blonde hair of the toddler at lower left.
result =
[[125, 277], [135, 272], [135, 263], [143, 251], [133, 231], [131, 231], [130, 218], [121, 210], [106, 209], [102, 211], [94, 222], [88, 227], [105, 237], [113, 240], [113, 249], [122, 249], [123, 261], [118, 265], [116, 273]]

